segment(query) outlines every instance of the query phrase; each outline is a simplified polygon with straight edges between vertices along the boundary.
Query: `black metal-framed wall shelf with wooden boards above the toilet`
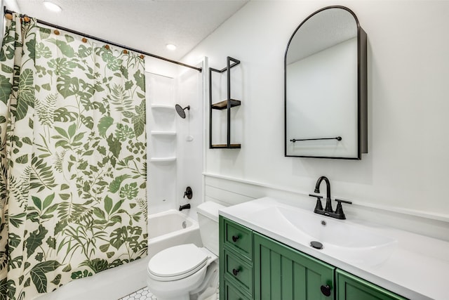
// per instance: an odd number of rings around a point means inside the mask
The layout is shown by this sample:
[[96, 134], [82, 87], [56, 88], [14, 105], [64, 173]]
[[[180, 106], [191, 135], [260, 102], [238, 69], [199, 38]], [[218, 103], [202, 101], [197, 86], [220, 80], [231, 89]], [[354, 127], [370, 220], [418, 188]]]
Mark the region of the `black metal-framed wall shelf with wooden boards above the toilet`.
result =
[[[231, 98], [231, 68], [239, 65], [240, 60], [227, 57], [226, 67], [222, 70], [209, 68], [209, 149], [239, 149], [241, 144], [231, 143], [231, 108], [241, 105], [240, 100]], [[212, 72], [223, 73], [227, 72], [227, 99], [217, 103], [212, 101]], [[227, 143], [212, 144], [212, 111], [213, 110], [227, 110]]]

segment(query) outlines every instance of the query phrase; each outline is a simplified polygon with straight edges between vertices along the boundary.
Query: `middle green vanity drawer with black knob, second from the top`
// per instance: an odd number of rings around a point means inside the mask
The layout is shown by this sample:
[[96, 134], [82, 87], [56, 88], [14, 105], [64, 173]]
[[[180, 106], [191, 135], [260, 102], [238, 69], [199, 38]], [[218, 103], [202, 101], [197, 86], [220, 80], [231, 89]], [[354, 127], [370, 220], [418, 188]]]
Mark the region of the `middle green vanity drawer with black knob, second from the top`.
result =
[[253, 294], [253, 266], [225, 249], [225, 278], [248, 294]]

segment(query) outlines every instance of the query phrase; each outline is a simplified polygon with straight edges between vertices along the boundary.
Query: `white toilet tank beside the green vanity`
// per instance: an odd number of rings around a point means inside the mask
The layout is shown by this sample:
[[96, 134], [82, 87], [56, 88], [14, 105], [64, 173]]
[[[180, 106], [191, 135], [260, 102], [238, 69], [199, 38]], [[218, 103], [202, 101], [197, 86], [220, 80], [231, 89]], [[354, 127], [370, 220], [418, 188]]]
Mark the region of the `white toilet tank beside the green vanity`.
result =
[[218, 256], [218, 209], [225, 208], [215, 202], [203, 202], [196, 208], [198, 214], [199, 233], [204, 247]]

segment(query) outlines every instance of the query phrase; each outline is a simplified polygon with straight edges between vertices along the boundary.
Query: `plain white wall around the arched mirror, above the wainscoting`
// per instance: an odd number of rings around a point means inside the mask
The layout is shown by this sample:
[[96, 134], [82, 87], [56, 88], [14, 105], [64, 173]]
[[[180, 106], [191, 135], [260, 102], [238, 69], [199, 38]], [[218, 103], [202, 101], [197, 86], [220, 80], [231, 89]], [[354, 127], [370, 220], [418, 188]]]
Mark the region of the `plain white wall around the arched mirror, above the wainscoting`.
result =
[[[284, 157], [288, 39], [308, 15], [336, 4], [354, 11], [368, 34], [368, 154], [361, 161]], [[449, 1], [250, 1], [185, 58], [206, 55], [217, 68], [226, 56], [241, 60], [234, 87], [242, 146], [207, 149], [205, 173], [303, 195], [326, 175], [333, 197], [449, 221], [447, 28]]]

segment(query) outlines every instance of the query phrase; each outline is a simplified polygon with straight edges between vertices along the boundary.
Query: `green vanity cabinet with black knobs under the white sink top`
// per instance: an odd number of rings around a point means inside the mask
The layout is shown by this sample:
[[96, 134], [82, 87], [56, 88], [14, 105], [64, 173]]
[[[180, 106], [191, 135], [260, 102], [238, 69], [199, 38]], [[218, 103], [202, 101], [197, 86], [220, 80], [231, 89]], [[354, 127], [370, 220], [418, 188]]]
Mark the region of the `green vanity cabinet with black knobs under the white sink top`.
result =
[[220, 300], [406, 300], [220, 216]]

